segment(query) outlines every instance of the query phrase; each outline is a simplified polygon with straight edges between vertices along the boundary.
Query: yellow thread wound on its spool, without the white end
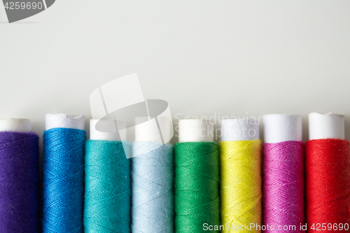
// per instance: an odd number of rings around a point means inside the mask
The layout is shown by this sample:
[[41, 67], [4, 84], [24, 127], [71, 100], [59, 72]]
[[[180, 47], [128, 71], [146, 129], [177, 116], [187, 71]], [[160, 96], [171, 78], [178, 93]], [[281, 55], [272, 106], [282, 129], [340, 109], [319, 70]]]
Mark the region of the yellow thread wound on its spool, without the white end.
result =
[[[221, 141], [221, 225], [261, 226], [261, 141]], [[227, 229], [227, 224], [230, 229]], [[260, 232], [240, 230], [239, 232]]]

